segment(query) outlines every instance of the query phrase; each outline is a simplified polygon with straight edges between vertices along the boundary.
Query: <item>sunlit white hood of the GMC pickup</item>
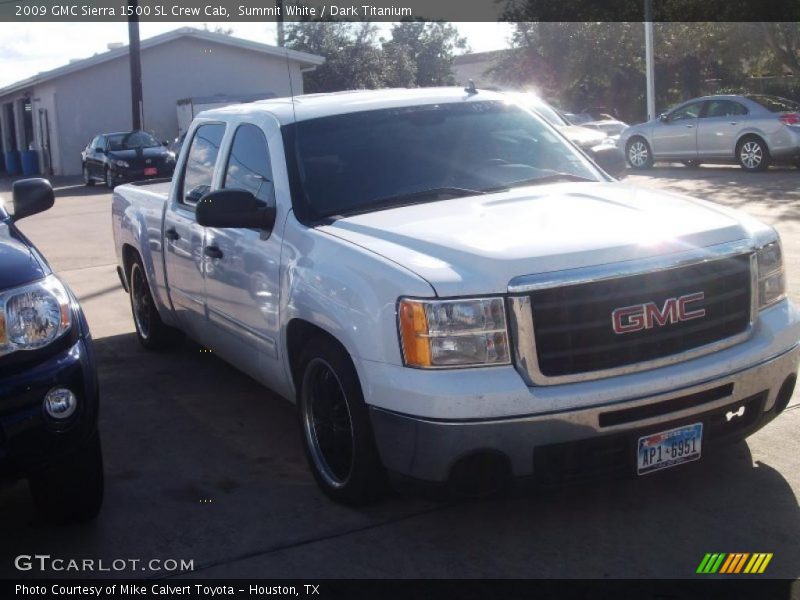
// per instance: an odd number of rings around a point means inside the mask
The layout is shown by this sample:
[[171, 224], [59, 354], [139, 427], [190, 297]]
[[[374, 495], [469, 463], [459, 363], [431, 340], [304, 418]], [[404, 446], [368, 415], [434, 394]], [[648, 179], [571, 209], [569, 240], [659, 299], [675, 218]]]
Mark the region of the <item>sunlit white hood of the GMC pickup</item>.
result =
[[[322, 231], [414, 271], [439, 296], [751, 237], [734, 211], [623, 183], [517, 188], [341, 218]], [[761, 226], [765, 227], [765, 226]]]

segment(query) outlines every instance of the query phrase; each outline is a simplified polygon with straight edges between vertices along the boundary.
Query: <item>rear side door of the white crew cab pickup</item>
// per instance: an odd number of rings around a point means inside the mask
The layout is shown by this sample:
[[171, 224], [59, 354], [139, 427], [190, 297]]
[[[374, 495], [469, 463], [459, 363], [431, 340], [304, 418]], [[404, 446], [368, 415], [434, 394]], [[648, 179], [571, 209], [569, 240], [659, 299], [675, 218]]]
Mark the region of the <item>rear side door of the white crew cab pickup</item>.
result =
[[170, 298], [181, 327], [194, 339], [206, 340], [204, 228], [195, 207], [211, 190], [225, 125], [200, 125], [191, 139], [186, 161], [175, 180], [164, 216], [164, 263]]

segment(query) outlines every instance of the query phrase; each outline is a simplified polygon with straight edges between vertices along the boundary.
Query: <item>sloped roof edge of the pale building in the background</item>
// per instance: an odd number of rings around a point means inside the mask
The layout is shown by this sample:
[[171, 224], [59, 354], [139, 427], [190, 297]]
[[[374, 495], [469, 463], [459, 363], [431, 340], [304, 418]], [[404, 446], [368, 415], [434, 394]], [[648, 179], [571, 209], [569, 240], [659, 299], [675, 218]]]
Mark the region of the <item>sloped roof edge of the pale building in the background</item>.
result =
[[[159, 46], [180, 38], [193, 38], [204, 42], [224, 44], [233, 48], [241, 48], [243, 50], [260, 52], [270, 56], [277, 56], [280, 58], [286, 57], [288, 60], [300, 63], [301, 67], [305, 68], [313, 68], [325, 62], [325, 59], [322, 56], [317, 56], [316, 54], [298, 52], [296, 50], [289, 50], [288, 48], [270, 46], [269, 44], [260, 44], [258, 42], [244, 40], [242, 38], [225, 35], [223, 33], [215, 33], [212, 31], [195, 29], [193, 27], [181, 27], [180, 29], [174, 29], [172, 31], [168, 31], [167, 33], [162, 33], [161, 35], [142, 40], [141, 49], [147, 50], [148, 48], [153, 48], [154, 46]], [[83, 69], [88, 69], [89, 67], [93, 67], [95, 65], [127, 55], [128, 46], [121, 46], [119, 48], [109, 50], [108, 52], [95, 54], [89, 58], [71, 62], [63, 67], [58, 67], [50, 71], [43, 71], [37, 75], [34, 75], [33, 77], [29, 77], [28, 79], [23, 79], [22, 81], [18, 81], [4, 88], [0, 88], [0, 96], [31, 87], [39, 83], [44, 83], [45, 81], [50, 81], [51, 79], [56, 79], [57, 77], [63, 77], [64, 75], [69, 75], [70, 73], [74, 73], [76, 71], [82, 71]]]

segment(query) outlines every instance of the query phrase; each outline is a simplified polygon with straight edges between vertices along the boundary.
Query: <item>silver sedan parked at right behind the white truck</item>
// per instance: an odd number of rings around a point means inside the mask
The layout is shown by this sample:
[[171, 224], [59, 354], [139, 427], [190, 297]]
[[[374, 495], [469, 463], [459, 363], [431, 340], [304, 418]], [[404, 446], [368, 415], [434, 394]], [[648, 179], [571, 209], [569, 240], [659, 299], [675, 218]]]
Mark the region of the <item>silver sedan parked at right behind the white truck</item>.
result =
[[736, 163], [763, 171], [773, 162], [800, 160], [800, 104], [777, 96], [705, 96], [621, 136], [628, 163], [647, 169], [655, 161]]

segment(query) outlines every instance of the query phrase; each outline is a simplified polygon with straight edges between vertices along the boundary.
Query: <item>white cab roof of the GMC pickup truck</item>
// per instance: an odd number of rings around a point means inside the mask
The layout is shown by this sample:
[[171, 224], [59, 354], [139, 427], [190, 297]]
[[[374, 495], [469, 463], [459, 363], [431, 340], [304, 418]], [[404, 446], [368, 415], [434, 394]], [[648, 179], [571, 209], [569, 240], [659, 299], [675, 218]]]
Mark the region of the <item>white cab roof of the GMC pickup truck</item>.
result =
[[274, 115], [281, 125], [287, 125], [296, 121], [382, 108], [481, 100], [508, 101], [508, 97], [488, 90], [478, 90], [477, 93], [470, 94], [461, 87], [357, 90], [260, 100], [203, 111], [198, 116], [224, 118], [265, 112]]

